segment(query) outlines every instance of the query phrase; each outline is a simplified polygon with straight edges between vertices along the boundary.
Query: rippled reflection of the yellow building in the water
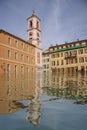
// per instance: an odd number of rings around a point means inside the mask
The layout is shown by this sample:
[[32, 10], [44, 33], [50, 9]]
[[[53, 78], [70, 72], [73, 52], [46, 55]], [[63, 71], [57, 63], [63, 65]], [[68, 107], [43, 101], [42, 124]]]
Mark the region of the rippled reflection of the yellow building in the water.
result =
[[43, 79], [43, 92], [45, 94], [74, 99], [77, 104], [87, 103], [87, 74], [58, 75], [45, 72]]

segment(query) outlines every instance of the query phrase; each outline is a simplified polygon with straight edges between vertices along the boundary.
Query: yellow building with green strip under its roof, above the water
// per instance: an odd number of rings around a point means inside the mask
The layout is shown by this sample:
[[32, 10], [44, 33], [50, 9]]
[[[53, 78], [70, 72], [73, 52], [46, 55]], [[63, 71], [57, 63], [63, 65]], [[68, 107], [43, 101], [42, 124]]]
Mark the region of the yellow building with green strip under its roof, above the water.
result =
[[58, 73], [87, 71], [87, 40], [51, 46], [48, 51], [50, 71]]

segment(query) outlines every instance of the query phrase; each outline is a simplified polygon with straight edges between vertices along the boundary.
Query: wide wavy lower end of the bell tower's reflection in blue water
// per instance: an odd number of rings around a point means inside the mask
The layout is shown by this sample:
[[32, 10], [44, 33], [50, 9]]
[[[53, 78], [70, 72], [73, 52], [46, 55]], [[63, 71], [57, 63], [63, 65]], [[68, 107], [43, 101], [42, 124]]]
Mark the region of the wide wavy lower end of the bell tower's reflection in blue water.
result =
[[26, 120], [32, 123], [33, 125], [40, 124], [41, 117], [41, 102], [40, 99], [32, 99], [30, 100]]

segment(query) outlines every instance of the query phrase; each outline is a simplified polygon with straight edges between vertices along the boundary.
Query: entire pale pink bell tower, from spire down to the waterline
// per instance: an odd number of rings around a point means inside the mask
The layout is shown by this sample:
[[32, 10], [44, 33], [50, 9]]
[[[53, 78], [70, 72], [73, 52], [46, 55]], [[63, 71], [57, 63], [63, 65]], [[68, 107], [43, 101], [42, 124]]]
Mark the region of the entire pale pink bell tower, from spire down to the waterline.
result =
[[33, 11], [32, 16], [27, 19], [27, 34], [28, 42], [36, 46], [36, 66], [38, 69], [42, 68], [42, 50], [40, 41], [40, 19]]

